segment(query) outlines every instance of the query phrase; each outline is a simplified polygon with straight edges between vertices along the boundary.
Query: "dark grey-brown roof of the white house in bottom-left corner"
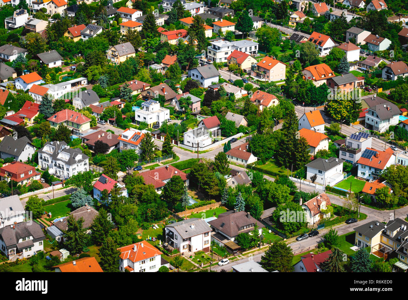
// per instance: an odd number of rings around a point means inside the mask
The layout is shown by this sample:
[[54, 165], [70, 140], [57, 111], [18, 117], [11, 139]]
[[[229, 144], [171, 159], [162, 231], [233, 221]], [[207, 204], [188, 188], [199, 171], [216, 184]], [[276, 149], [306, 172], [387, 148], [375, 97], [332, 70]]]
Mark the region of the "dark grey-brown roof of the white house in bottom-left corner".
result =
[[[31, 242], [37, 242], [45, 239], [40, 225], [35, 222], [31, 222], [31, 225], [29, 225], [27, 222], [21, 222], [15, 225], [0, 228], [0, 237], [6, 244], [6, 247], [17, 245], [20, 238], [27, 238], [29, 236], [33, 237], [33, 240], [31, 240]], [[24, 248], [25, 246], [22, 245], [22, 243], [20, 243], [19, 245], [22, 248]]]

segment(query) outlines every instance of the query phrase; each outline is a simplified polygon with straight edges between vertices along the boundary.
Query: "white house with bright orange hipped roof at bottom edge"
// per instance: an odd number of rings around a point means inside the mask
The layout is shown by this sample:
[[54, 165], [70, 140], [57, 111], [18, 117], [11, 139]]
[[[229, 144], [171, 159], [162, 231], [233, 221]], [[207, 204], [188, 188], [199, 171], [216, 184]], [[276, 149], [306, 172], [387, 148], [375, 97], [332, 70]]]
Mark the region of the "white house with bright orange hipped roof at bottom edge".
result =
[[157, 272], [160, 267], [170, 267], [162, 258], [162, 252], [147, 242], [139, 242], [118, 248], [120, 251], [119, 269], [124, 272]]

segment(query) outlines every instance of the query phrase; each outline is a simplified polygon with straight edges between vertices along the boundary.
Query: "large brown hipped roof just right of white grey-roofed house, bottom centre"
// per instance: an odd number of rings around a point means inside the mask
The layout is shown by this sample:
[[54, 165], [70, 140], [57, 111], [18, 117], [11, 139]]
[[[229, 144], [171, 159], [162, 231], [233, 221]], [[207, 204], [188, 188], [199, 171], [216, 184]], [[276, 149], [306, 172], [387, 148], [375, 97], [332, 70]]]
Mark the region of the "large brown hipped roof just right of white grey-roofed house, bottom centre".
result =
[[265, 227], [262, 223], [251, 216], [251, 214], [246, 213], [243, 210], [240, 212], [234, 212], [234, 210], [224, 212], [220, 214], [217, 219], [208, 222], [211, 227], [217, 228], [219, 232], [222, 232], [230, 237], [237, 236], [240, 233], [252, 231], [253, 227], [242, 230], [240, 230], [240, 228], [255, 223], [258, 225], [258, 229]]

